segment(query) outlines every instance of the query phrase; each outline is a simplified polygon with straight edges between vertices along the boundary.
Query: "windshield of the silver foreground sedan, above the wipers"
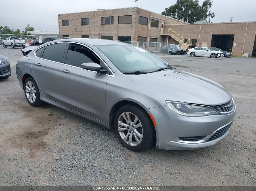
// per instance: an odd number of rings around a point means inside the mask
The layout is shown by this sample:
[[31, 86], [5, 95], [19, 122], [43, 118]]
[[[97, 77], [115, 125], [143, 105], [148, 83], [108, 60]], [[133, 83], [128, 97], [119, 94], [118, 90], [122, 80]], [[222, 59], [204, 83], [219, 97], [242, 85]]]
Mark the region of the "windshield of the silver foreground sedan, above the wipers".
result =
[[95, 45], [121, 72], [153, 72], [171, 68], [148, 51], [132, 45]]

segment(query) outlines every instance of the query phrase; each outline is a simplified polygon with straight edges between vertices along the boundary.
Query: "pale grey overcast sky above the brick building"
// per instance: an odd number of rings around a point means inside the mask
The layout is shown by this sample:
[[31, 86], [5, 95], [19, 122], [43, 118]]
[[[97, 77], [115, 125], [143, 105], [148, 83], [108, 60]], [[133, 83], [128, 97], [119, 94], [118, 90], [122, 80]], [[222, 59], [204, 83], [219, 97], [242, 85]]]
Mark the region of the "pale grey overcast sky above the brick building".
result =
[[[200, 5], [204, 0], [199, 0]], [[213, 22], [256, 21], [255, 0], [212, 0]], [[132, 0], [0, 0], [0, 26], [58, 31], [58, 14], [130, 7]], [[139, 8], [161, 14], [177, 0], [139, 0]]]

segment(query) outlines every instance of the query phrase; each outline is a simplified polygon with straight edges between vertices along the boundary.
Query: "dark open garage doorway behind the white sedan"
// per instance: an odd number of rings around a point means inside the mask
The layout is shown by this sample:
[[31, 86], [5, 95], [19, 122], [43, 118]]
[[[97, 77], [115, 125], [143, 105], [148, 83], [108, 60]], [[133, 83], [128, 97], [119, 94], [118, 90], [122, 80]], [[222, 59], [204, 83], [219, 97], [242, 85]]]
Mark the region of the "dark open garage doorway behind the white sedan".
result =
[[234, 34], [213, 34], [211, 37], [211, 47], [217, 47], [221, 50], [232, 50]]

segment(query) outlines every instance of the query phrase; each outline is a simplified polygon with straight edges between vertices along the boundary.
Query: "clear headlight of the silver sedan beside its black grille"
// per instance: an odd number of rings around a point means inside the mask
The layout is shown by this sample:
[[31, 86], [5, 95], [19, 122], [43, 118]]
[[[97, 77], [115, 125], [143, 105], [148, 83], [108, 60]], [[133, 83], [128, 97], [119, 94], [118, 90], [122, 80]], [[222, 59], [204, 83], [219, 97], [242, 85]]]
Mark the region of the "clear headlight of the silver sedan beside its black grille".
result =
[[178, 113], [183, 116], [199, 117], [199, 116], [219, 114], [217, 111], [211, 109], [210, 107], [192, 105], [192, 104], [187, 104], [184, 102], [176, 102], [176, 101], [165, 101], [165, 103], [175, 113]]

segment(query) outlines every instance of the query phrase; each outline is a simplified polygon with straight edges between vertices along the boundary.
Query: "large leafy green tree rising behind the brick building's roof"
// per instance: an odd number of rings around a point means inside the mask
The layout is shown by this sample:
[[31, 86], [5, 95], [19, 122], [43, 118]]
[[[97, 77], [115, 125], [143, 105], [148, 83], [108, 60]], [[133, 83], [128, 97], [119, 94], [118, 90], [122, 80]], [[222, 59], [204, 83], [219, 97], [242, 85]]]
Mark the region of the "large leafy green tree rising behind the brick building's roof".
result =
[[200, 20], [210, 23], [211, 19], [215, 17], [214, 12], [210, 11], [211, 7], [211, 0], [204, 0], [201, 6], [198, 0], [177, 0], [174, 5], [165, 8], [162, 14], [178, 20], [188, 20], [188, 23]]

